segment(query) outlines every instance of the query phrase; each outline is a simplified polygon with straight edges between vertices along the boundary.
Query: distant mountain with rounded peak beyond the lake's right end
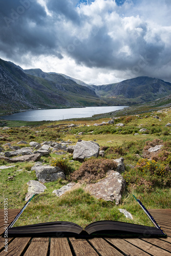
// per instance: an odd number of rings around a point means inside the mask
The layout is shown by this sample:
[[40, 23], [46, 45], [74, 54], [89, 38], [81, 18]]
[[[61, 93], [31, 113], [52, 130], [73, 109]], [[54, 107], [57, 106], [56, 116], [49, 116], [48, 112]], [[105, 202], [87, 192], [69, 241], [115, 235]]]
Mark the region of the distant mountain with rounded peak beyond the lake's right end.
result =
[[147, 76], [139, 76], [118, 83], [93, 86], [98, 96], [123, 98], [137, 103], [148, 102], [171, 94], [171, 83]]

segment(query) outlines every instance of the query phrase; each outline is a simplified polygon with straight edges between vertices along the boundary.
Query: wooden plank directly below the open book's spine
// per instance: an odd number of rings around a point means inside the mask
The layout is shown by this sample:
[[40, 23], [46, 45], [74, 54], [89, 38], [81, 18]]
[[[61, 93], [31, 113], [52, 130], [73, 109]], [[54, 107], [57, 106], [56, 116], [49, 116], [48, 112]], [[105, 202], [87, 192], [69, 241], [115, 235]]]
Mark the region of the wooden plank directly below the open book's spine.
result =
[[69, 238], [69, 240], [73, 246], [76, 256], [98, 256], [97, 252], [93, 249], [93, 247], [88, 243], [86, 239]]

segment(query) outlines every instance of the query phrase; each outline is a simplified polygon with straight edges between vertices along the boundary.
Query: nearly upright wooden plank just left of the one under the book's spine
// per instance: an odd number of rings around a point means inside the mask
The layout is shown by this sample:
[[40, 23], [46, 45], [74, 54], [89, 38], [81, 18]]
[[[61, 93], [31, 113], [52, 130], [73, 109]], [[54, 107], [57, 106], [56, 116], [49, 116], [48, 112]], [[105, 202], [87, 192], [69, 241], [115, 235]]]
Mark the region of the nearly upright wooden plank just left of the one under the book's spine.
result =
[[50, 256], [72, 256], [67, 238], [51, 238]]

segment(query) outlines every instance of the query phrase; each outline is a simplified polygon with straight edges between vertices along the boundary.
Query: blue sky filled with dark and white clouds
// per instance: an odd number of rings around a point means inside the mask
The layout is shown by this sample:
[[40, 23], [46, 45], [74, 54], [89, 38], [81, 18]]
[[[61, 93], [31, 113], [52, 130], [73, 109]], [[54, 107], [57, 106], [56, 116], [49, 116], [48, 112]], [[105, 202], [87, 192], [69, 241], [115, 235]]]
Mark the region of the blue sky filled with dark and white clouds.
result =
[[89, 84], [171, 82], [171, 0], [0, 0], [0, 58]]

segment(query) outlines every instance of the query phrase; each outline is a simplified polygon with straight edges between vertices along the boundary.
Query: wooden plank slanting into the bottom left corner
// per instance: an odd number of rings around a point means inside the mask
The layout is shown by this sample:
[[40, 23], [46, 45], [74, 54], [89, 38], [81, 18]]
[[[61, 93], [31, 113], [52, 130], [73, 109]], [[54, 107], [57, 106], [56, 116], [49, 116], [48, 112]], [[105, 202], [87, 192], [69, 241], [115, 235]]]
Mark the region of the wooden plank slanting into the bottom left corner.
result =
[[23, 251], [25, 250], [26, 246], [28, 245], [31, 238], [15, 238], [9, 245], [8, 245], [8, 252], [2, 251], [0, 256], [20, 256], [22, 255]]

